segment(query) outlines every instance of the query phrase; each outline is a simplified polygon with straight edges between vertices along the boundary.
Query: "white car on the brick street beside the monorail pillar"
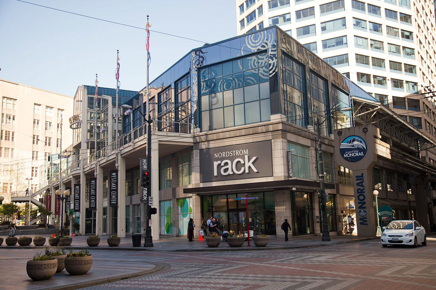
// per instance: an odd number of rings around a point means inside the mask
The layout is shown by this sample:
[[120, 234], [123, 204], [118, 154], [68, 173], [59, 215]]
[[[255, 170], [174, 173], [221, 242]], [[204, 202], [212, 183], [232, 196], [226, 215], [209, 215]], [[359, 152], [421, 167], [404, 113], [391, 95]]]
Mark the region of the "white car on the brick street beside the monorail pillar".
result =
[[418, 243], [422, 243], [422, 246], [427, 244], [426, 230], [416, 220], [394, 220], [383, 229], [380, 239], [384, 247], [409, 245], [416, 248]]

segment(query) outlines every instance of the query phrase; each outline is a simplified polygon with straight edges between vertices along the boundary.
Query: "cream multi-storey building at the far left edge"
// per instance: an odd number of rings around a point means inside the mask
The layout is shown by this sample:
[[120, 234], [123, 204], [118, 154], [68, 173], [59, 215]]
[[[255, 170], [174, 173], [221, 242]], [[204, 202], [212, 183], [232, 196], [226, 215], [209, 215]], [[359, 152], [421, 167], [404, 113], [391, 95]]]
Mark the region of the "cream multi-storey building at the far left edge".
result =
[[44, 162], [71, 145], [65, 117], [73, 98], [1, 79], [0, 96], [0, 186], [10, 202], [12, 192], [24, 197], [27, 188], [34, 193], [44, 186]]

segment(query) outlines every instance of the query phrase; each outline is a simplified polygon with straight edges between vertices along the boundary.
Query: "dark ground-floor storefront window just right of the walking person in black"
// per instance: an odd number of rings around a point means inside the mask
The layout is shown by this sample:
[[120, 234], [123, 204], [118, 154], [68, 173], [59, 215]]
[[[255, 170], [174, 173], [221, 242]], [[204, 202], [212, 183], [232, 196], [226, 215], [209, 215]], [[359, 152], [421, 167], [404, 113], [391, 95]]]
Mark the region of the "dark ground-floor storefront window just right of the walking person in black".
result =
[[313, 231], [312, 192], [291, 192], [293, 235], [305, 235]]

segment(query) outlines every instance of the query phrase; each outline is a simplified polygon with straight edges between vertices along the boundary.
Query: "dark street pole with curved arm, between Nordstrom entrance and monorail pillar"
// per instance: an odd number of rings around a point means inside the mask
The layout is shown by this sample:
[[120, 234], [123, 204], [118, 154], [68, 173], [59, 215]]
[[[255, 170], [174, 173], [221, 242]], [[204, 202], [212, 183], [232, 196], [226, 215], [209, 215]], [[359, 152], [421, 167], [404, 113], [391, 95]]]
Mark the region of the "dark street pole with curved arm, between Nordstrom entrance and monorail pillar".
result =
[[330, 115], [337, 111], [351, 111], [350, 107], [340, 108], [333, 111], [324, 118], [324, 121], [320, 122], [320, 118], [317, 118], [315, 125], [317, 126], [317, 141], [318, 141], [318, 170], [320, 172], [320, 196], [321, 196], [321, 210], [323, 213], [323, 232], [322, 232], [322, 240], [330, 241], [330, 232], [328, 231], [327, 225], [327, 195], [325, 194], [325, 184], [324, 184], [324, 162], [323, 162], [323, 151], [322, 151], [322, 142], [321, 142], [321, 125], [330, 117]]

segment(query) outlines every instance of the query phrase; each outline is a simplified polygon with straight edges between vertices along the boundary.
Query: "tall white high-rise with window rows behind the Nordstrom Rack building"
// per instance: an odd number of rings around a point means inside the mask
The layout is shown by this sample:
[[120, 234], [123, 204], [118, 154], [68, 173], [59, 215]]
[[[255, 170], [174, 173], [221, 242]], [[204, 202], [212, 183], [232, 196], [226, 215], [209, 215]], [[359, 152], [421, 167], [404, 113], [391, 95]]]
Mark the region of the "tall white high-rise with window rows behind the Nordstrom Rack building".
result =
[[236, 0], [239, 35], [279, 26], [436, 141], [434, 11], [424, 0]]

